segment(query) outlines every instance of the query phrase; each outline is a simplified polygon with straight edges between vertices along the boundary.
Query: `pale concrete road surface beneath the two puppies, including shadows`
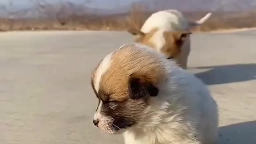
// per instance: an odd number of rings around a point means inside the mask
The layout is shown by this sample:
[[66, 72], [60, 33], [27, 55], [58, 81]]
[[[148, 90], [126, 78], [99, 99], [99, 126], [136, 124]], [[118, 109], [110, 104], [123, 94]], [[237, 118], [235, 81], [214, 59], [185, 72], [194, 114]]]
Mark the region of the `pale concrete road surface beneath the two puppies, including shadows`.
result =
[[[92, 124], [90, 74], [126, 32], [0, 33], [0, 144], [122, 144]], [[222, 144], [256, 144], [256, 31], [193, 34], [188, 71], [220, 108]]]

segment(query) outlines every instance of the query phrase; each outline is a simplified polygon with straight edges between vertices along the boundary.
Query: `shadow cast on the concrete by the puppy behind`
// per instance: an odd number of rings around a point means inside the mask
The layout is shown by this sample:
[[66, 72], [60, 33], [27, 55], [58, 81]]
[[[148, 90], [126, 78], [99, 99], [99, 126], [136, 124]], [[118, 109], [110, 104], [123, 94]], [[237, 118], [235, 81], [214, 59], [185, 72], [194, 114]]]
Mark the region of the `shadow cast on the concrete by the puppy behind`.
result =
[[207, 85], [256, 80], [256, 64], [197, 67], [197, 69], [206, 68], [210, 70], [195, 75]]

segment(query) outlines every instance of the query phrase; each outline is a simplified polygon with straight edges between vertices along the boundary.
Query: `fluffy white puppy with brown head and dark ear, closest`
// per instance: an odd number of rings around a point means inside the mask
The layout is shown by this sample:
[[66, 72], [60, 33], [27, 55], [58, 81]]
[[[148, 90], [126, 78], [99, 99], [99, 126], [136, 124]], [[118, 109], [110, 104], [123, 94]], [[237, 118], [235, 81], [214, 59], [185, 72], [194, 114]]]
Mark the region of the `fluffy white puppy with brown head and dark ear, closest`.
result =
[[218, 107], [206, 86], [146, 45], [121, 46], [91, 78], [93, 123], [125, 144], [215, 144]]

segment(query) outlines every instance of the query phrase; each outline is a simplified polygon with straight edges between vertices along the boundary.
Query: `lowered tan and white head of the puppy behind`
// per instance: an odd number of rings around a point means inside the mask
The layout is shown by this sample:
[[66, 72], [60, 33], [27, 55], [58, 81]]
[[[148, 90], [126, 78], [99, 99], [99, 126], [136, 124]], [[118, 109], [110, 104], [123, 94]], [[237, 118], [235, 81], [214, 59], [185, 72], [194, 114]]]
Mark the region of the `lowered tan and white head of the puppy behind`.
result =
[[182, 52], [182, 46], [186, 37], [191, 34], [189, 31], [168, 32], [158, 28], [144, 33], [138, 28], [131, 28], [128, 32], [135, 37], [135, 42], [148, 45], [161, 52], [166, 58], [176, 58]]

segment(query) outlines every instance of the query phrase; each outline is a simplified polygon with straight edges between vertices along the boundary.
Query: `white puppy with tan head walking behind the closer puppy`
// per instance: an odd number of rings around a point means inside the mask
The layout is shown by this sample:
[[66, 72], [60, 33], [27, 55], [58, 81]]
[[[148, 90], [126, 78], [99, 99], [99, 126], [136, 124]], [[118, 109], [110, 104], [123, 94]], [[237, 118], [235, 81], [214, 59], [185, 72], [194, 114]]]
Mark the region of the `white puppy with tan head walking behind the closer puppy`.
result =
[[128, 32], [135, 36], [135, 42], [154, 48], [168, 59], [174, 58], [186, 69], [190, 54], [189, 30], [203, 24], [210, 16], [208, 13], [201, 20], [189, 22], [178, 10], [163, 10], [152, 14], [141, 30], [134, 26]]

